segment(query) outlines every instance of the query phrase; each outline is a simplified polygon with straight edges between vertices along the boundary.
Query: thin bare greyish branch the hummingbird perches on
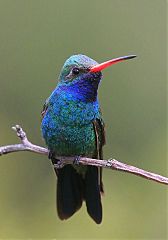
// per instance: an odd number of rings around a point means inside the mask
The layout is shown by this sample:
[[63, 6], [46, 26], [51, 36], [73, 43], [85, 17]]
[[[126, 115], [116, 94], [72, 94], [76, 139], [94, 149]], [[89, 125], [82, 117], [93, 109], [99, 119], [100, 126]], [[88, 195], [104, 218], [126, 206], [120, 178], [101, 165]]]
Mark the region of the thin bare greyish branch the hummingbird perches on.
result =
[[[19, 151], [30, 151], [34, 153], [43, 154], [43, 155], [49, 154], [48, 149], [34, 145], [31, 142], [29, 142], [29, 140], [27, 139], [26, 133], [23, 131], [23, 129], [19, 125], [12, 127], [12, 129], [16, 131], [17, 136], [21, 140], [21, 143], [0, 147], [0, 156], [2, 156], [3, 154], [19, 152]], [[56, 156], [56, 159], [58, 160], [58, 162], [57, 164], [54, 164], [55, 168], [62, 168], [66, 164], [74, 164], [75, 162], [75, 157]], [[119, 162], [116, 159], [99, 160], [99, 159], [92, 159], [92, 158], [86, 158], [86, 157], [79, 157], [78, 163], [82, 165], [92, 165], [92, 166], [98, 166], [103, 168], [109, 168], [112, 170], [118, 170], [122, 172], [128, 172], [128, 173], [146, 178], [148, 180], [152, 180], [155, 182], [168, 185], [167, 177], [163, 177], [156, 173], [148, 172], [143, 169]]]

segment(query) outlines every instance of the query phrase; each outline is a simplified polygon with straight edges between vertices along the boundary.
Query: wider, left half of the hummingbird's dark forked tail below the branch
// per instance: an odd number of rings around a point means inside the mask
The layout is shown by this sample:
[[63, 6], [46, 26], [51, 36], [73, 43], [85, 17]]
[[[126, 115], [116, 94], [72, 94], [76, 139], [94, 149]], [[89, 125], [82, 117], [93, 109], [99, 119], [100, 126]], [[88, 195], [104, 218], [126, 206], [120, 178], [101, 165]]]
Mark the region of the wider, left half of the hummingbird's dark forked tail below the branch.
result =
[[82, 206], [84, 183], [82, 176], [70, 165], [59, 169], [57, 177], [57, 212], [64, 220]]

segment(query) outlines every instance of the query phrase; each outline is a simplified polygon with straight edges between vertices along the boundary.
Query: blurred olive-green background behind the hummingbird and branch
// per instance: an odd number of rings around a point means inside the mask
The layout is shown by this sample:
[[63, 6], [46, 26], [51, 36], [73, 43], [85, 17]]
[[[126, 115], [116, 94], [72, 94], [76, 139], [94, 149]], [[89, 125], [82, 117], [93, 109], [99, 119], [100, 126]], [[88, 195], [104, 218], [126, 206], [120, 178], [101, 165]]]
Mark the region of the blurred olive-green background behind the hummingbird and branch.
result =
[[[167, 175], [164, 0], [0, 0], [0, 145], [19, 142], [14, 124], [44, 145], [42, 105], [75, 53], [98, 62], [138, 55], [104, 71], [104, 158]], [[45, 156], [1, 158], [0, 238], [167, 239], [166, 186], [105, 170], [97, 226], [85, 205], [70, 220], [58, 219], [55, 181]]]

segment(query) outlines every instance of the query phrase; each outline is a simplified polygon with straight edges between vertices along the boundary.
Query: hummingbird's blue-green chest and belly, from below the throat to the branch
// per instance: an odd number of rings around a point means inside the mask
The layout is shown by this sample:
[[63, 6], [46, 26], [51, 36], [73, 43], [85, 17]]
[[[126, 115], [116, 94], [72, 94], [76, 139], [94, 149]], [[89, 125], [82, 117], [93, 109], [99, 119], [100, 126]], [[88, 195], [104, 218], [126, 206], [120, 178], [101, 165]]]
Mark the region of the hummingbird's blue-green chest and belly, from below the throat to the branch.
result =
[[97, 108], [91, 104], [73, 101], [56, 101], [43, 121], [42, 132], [50, 149], [58, 154], [82, 155], [95, 150], [95, 133], [92, 121]]

